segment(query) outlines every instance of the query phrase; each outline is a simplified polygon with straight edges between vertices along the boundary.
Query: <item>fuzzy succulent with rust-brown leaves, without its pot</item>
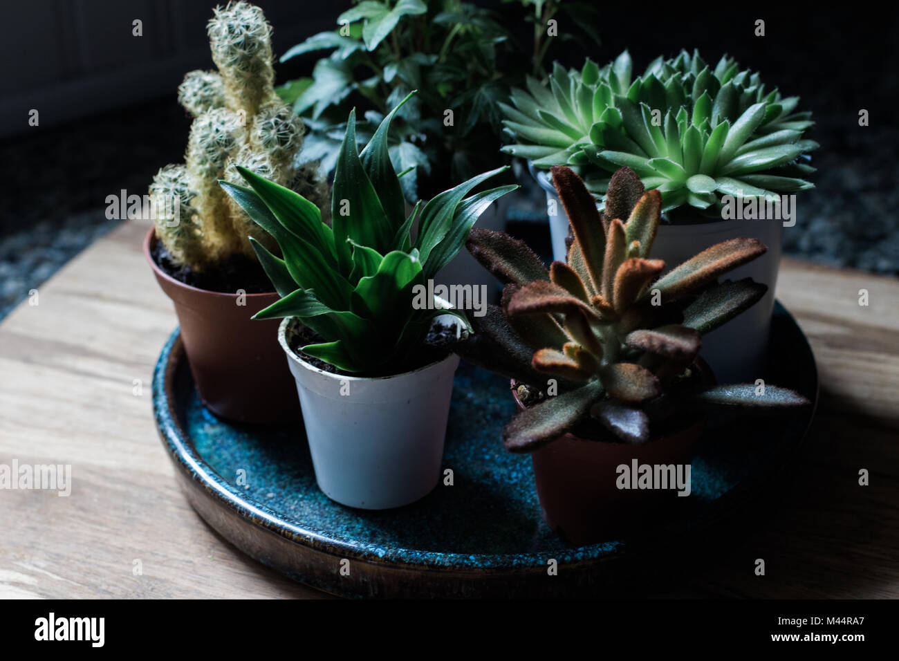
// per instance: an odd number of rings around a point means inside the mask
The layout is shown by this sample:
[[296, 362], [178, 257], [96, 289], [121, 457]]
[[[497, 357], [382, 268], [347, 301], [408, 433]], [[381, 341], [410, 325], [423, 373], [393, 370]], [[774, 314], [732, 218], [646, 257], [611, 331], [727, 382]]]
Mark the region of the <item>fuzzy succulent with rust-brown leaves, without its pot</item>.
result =
[[[553, 166], [553, 182], [573, 229], [567, 260], [547, 268], [521, 241], [474, 229], [468, 249], [505, 284], [502, 307], [474, 319], [457, 345], [471, 362], [517, 380], [521, 394], [558, 393], [521, 411], [503, 430], [510, 451], [532, 451], [584, 421], [623, 442], [651, 438], [651, 423], [690, 406], [789, 407], [805, 397], [775, 386], [703, 387], [692, 370], [701, 335], [749, 308], [767, 290], [719, 276], [766, 250], [735, 238], [662, 275], [650, 257], [662, 196], [628, 168], [612, 175], [605, 210], [574, 171]], [[661, 275], [661, 277], [659, 277]]]

